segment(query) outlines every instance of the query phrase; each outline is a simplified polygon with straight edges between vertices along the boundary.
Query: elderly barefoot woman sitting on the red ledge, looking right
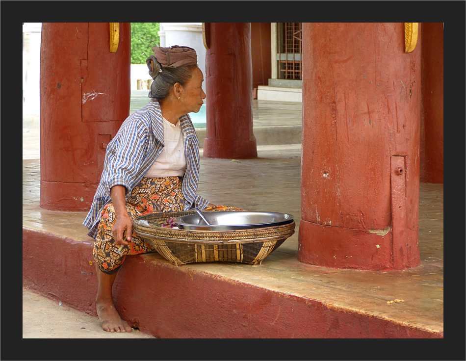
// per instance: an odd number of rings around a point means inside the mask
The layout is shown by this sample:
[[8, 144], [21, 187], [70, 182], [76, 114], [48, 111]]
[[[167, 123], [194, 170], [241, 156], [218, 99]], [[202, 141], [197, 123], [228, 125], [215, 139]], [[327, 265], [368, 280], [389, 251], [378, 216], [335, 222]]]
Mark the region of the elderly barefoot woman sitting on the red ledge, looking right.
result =
[[[132, 231], [132, 220], [152, 212], [216, 208], [196, 194], [199, 142], [187, 113], [198, 112], [206, 98], [196, 52], [178, 46], [152, 50], [147, 59], [152, 101], [131, 114], [108, 145], [83, 223], [96, 239], [97, 313], [109, 332], [131, 331], [113, 304], [116, 272], [127, 255], [155, 252]], [[125, 247], [119, 251], [120, 246]]]

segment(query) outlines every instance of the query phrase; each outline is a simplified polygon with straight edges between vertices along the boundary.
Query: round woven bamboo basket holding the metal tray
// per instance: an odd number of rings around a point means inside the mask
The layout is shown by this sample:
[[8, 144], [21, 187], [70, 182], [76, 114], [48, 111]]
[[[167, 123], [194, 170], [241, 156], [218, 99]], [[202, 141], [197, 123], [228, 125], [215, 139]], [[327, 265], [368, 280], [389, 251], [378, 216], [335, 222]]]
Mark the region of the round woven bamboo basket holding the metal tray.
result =
[[[134, 231], [164, 258], [177, 266], [196, 262], [261, 264], [285, 239], [293, 235], [295, 222], [265, 228], [235, 231], [193, 231], [148, 226], [193, 211], [152, 213], [136, 217]], [[145, 223], [145, 222], [144, 222]]]

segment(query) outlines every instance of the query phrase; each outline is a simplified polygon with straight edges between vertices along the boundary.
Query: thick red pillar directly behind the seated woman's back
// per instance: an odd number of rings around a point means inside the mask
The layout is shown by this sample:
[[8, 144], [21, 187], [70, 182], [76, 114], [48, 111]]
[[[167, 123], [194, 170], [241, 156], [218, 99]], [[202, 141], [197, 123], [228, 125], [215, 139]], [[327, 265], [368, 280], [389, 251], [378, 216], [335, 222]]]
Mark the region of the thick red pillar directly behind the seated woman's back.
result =
[[104, 166], [105, 146], [129, 115], [130, 26], [43, 23], [40, 66], [40, 206], [84, 211]]

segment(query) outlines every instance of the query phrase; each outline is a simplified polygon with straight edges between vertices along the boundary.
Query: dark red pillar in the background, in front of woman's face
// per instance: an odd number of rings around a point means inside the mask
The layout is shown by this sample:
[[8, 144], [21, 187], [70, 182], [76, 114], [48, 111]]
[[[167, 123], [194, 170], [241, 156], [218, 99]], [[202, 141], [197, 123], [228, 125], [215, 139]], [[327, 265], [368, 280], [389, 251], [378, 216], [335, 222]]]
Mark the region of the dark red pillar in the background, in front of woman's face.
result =
[[208, 23], [204, 156], [255, 158], [251, 24]]

